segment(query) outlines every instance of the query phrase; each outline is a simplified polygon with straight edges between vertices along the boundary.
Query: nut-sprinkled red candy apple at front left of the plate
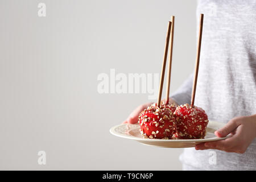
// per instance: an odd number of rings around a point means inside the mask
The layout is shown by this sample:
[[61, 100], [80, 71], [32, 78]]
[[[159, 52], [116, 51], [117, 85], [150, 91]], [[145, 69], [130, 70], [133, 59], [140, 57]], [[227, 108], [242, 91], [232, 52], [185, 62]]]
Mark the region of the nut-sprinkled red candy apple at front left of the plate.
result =
[[145, 138], [171, 139], [174, 134], [174, 111], [169, 106], [156, 104], [144, 109], [139, 114], [139, 125], [141, 134]]

